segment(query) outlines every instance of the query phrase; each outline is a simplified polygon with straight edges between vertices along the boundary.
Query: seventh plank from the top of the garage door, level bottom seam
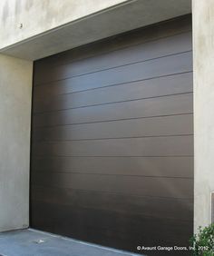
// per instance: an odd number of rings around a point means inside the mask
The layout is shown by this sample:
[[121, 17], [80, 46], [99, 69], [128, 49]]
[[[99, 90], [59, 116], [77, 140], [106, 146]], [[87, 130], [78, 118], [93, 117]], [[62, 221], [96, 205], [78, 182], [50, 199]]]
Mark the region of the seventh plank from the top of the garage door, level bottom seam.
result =
[[190, 156], [193, 136], [41, 142], [33, 150], [38, 156]]

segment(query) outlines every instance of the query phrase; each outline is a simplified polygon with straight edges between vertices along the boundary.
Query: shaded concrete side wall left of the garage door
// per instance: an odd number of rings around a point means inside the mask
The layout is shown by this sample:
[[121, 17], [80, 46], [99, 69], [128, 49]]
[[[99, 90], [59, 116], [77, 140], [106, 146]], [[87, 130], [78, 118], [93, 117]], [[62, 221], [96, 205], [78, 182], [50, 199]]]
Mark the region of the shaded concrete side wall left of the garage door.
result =
[[0, 231], [29, 225], [32, 71], [0, 54]]

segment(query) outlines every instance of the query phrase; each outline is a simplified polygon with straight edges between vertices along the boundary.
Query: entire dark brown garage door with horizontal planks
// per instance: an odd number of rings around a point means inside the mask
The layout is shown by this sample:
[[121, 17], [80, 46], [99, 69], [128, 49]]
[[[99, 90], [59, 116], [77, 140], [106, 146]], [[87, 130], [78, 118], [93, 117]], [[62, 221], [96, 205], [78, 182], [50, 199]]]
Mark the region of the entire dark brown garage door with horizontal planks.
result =
[[34, 63], [32, 227], [128, 251], [188, 244], [191, 50], [185, 16]]

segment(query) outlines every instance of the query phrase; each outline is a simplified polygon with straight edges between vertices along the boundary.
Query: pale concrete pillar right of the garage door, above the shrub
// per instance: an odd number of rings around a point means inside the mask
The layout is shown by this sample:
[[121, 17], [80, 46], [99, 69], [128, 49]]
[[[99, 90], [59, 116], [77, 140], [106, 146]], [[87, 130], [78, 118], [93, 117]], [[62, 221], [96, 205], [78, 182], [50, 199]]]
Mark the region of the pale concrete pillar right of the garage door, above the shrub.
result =
[[195, 230], [210, 222], [214, 191], [214, 1], [193, 0]]

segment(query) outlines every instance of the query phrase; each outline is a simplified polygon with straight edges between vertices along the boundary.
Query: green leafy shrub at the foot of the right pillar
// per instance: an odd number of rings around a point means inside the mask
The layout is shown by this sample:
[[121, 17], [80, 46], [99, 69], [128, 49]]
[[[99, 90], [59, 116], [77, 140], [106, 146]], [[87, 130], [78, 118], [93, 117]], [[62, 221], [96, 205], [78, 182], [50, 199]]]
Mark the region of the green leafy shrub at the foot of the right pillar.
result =
[[208, 227], [199, 227], [198, 234], [190, 239], [193, 256], [214, 256], [214, 223]]

